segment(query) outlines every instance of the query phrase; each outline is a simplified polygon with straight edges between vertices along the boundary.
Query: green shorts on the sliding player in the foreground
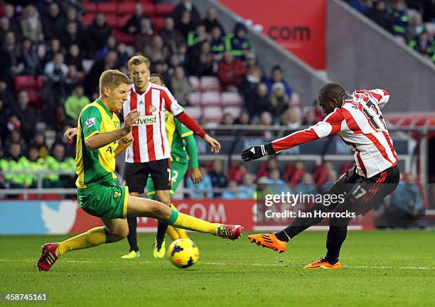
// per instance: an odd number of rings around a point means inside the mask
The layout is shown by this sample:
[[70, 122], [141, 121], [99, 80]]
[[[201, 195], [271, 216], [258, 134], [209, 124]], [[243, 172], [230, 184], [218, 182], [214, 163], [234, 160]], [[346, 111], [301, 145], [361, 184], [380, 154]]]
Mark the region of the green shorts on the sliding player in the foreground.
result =
[[129, 188], [111, 185], [92, 185], [89, 188], [79, 188], [77, 200], [85, 212], [104, 219], [127, 217], [127, 200]]

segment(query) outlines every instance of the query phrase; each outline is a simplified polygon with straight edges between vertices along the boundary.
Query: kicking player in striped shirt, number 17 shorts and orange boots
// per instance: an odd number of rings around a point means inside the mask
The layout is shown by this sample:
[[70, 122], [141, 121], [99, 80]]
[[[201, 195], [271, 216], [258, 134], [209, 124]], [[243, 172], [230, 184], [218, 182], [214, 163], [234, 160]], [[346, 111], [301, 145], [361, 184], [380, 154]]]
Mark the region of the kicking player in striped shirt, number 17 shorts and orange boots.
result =
[[380, 111], [389, 99], [390, 94], [385, 90], [356, 90], [348, 95], [341, 85], [329, 83], [319, 90], [317, 97], [323, 112], [328, 114], [322, 122], [269, 144], [252, 146], [242, 151], [243, 161], [251, 161], [338, 134], [353, 149], [356, 163], [331, 188], [323, 192], [344, 195], [344, 202], [330, 206], [316, 203], [306, 210], [312, 217], [296, 217], [289, 227], [280, 232], [250, 235], [248, 239], [251, 242], [284, 252], [289, 240], [321, 222], [321, 215], [338, 213], [329, 221], [326, 257], [308, 264], [304, 269], [341, 268], [338, 257], [346, 238], [348, 223], [352, 219], [345, 213], [364, 215], [392, 193], [399, 183], [397, 154]]

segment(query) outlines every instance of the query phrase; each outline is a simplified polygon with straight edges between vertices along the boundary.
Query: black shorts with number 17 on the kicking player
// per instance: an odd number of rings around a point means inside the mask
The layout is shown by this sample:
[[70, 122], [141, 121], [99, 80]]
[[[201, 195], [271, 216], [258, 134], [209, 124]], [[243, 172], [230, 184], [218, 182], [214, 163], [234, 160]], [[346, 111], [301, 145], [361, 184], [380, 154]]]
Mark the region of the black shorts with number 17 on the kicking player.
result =
[[344, 195], [344, 202], [337, 203], [335, 212], [353, 211], [365, 215], [397, 188], [400, 172], [397, 166], [388, 168], [370, 178], [364, 178], [356, 173], [355, 167], [350, 168], [338, 181], [322, 194]]

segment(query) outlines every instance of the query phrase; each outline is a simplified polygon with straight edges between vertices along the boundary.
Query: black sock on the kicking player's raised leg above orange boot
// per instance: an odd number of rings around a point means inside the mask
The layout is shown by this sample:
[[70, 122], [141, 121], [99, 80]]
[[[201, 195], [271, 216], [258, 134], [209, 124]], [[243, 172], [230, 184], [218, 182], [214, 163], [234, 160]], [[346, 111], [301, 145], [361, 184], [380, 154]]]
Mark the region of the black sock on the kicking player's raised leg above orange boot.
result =
[[284, 242], [289, 242], [292, 237], [296, 237], [300, 232], [303, 232], [308, 227], [318, 224], [323, 220], [323, 217], [314, 217], [314, 211], [329, 212], [329, 209], [324, 205], [315, 204], [304, 212], [311, 212], [313, 217], [296, 217], [293, 222], [280, 232], [276, 232], [276, 237]]

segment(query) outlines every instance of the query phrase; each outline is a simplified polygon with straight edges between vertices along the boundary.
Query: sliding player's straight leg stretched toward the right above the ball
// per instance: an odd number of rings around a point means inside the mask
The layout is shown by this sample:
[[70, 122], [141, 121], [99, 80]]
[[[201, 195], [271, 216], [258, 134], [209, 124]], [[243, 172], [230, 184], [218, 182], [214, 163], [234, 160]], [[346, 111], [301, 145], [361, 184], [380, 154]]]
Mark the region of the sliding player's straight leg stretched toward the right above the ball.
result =
[[129, 196], [127, 215], [131, 217], [154, 217], [173, 227], [209, 233], [224, 239], [239, 239], [243, 230], [243, 227], [240, 225], [210, 223], [177, 212], [155, 200], [135, 198], [133, 196]]

